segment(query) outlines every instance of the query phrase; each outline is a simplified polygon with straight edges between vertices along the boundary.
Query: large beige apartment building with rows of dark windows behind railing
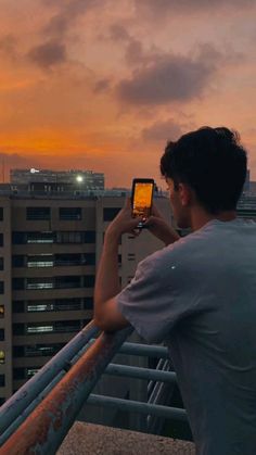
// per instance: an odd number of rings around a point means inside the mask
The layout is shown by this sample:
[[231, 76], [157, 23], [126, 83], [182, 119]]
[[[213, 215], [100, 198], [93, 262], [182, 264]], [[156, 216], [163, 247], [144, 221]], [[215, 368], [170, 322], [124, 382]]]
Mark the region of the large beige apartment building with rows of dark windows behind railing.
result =
[[[104, 231], [124, 201], [0, 191], [0, 404], [91, 319]], [[156, 204], [171, 223], [168, 199]], [[123, 236], [121, 286], [159, 248], [146, 230]]]

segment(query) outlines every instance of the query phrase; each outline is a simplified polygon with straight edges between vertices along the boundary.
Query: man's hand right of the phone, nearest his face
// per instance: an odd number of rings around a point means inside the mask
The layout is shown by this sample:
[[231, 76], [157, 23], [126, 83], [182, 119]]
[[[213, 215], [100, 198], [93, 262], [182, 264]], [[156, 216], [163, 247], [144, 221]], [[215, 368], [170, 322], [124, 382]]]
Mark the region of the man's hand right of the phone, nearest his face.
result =
[[175, 229], [167, 225], [163, 215], [155, 205], [152, 207], [152, 216], [146, 219], [145, 226], [150, 232], [157, 237], [157, 239], [162, 240], [166, 245], [180, 239]]

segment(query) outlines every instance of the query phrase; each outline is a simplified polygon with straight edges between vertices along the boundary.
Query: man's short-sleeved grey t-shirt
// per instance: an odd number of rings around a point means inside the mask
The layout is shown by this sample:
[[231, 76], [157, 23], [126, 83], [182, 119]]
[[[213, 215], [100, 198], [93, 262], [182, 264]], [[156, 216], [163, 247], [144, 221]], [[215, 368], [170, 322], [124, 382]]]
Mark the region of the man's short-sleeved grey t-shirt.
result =
[[117, 304], [167, 342], [199, 454], [256, 454], [256, 224], [214, 219], [152, 254]]

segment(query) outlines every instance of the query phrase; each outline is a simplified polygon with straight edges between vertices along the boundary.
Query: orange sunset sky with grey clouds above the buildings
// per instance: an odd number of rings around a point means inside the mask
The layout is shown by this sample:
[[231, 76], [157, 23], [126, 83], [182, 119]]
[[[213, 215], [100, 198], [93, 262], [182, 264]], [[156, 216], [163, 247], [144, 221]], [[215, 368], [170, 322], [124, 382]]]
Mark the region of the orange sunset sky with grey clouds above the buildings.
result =
[[256, 180], [255, 42], [256, 0], [0, 0], [0, 178], [161, 182], [168, 139], [223, 125]]

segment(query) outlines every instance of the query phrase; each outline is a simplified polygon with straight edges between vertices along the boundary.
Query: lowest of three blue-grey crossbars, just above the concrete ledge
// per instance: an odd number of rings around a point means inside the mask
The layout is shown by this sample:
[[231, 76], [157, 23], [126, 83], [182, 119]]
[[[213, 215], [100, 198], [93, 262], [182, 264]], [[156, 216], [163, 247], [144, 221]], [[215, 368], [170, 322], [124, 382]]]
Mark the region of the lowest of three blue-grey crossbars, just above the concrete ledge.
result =
[[179, 409], [177, 407], [168, 407], [156, 404], [149, 404], [142, 402], [136, 402], [131, 400], [115, 399], [112, 396], [105, 395], [95, 395], [90, 394], [87, 400], [88, 404], [104, 406], [104, 407], [114, 407], [116, 409], [127, 410], [130, 413], [139, 414], [153, 414], [158, 417], [171, 418], [177, 420], [188, 420], [187, 412], [184, 409]]

